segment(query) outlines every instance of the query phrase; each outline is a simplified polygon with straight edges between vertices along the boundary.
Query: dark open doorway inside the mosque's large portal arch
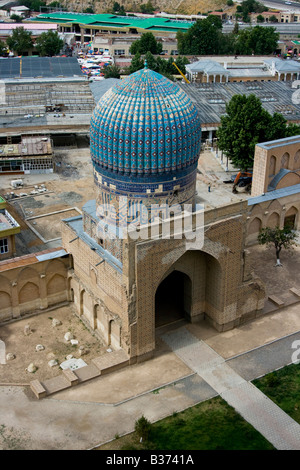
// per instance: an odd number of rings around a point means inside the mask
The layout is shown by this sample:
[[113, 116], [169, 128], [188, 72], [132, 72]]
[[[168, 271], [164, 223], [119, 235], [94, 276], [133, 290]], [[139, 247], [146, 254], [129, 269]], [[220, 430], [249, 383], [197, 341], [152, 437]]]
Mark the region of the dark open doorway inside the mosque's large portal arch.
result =
[[192, 282], [181, 271], [173, 271], [155, 294], [155, 326], [159, 327], [190, 315]]

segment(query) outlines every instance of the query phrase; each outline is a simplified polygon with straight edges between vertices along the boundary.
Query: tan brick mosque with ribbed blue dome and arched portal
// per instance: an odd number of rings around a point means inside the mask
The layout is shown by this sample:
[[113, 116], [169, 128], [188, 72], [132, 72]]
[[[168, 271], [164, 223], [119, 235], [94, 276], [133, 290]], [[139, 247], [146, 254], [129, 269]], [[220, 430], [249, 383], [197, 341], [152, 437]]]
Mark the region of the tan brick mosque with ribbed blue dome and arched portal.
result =
[[[224, 331], [264, 305], [245, 250], [247, 201], [196, 206], [200, 145], [192, 100], [147, 66], [107, 91], [92, 115], [95, 199], [62, 227], [68, 291], [82, 321], [130, 363], [153, 355], [157, 327], [205, 318]], [[186, 214], [201, 243], [178, 236]]]

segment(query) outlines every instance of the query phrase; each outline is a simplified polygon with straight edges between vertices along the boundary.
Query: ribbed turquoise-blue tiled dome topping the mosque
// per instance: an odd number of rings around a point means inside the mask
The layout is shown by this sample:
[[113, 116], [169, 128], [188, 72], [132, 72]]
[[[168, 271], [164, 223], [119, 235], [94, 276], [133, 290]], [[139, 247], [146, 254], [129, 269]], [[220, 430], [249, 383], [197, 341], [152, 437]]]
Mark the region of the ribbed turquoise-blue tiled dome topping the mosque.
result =
[[186, 93], [144, 68], [120, 80], [97, 104], [91, 119], [91, 156], [101, 168], [130, 176], [194, 167], [201, 127]]

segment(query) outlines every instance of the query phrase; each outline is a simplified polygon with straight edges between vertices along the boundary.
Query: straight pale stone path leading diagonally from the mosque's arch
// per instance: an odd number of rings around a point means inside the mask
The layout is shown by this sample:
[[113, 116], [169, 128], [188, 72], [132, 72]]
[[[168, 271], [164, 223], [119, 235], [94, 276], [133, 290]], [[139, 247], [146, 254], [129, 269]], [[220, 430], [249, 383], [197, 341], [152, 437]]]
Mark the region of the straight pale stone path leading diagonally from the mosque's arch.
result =
[[300, 425], [186, 328], [162, 335], [175, 354], [278, 450], [300, 450]]

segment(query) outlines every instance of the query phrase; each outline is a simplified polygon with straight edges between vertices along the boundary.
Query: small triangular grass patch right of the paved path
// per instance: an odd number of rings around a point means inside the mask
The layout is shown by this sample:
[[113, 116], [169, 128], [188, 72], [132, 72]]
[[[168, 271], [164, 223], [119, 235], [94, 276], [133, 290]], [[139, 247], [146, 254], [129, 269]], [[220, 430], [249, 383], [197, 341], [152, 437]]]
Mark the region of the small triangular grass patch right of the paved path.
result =
[[253, 384], [300, 424], [300, 364], [283, 367]]

